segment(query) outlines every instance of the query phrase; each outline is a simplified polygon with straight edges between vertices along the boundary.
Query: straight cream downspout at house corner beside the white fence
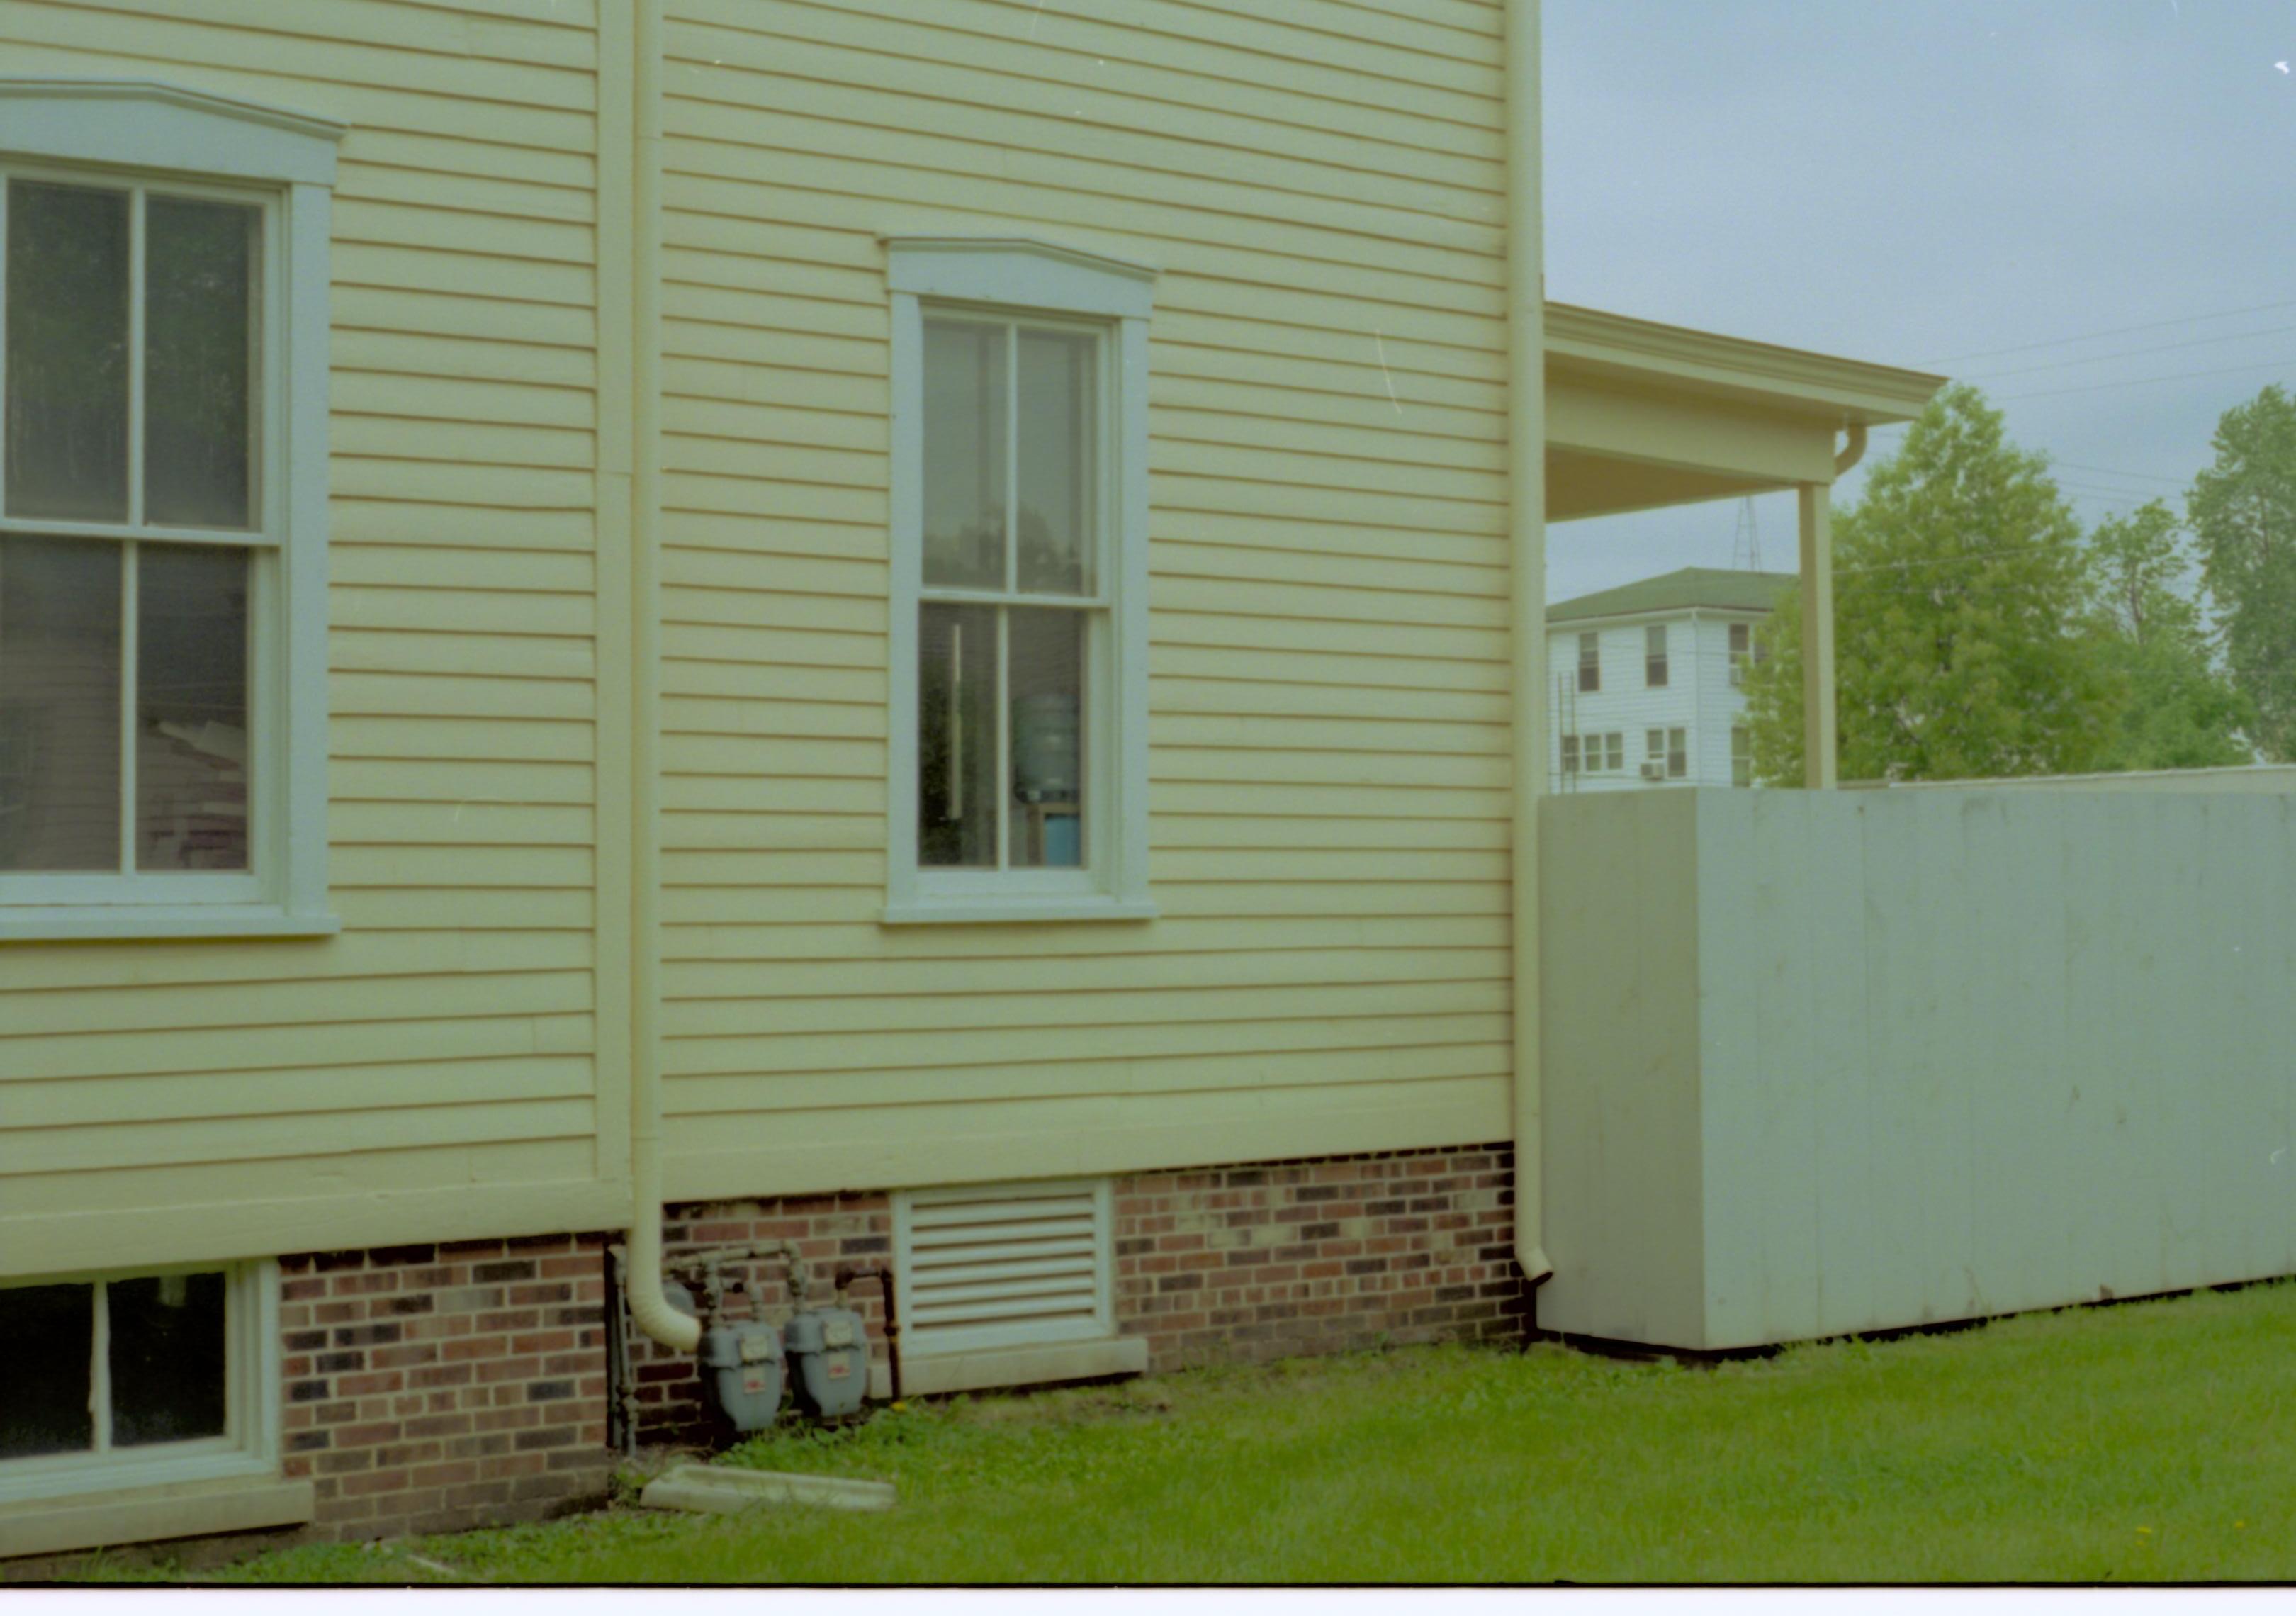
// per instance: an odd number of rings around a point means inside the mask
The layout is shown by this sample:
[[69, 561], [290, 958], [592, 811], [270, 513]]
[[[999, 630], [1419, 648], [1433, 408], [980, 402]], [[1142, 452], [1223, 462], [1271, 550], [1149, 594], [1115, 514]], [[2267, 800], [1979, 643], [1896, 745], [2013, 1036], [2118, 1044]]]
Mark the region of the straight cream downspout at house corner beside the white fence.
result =
[[1538, 797], [1548, 778], [1548, 354], [1538, 172], [1538, 0], [1506, 0], [1506, 553], [1513, 638], [1515, 1262], [1554, 1272], [1543, 1237]]

